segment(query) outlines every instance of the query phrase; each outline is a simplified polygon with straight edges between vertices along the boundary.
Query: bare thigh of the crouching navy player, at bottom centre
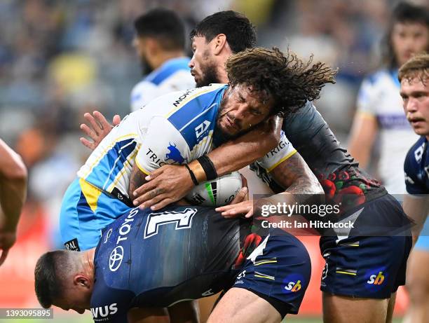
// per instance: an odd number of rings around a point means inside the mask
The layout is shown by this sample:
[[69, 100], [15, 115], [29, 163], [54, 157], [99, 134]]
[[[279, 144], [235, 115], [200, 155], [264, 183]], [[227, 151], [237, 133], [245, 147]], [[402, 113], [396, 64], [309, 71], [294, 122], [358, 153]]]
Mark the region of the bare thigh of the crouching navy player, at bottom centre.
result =
[[214, 308], [207, 323], [280, 322], [280, 313], [264, 298], [243, 288], [231, 288]]

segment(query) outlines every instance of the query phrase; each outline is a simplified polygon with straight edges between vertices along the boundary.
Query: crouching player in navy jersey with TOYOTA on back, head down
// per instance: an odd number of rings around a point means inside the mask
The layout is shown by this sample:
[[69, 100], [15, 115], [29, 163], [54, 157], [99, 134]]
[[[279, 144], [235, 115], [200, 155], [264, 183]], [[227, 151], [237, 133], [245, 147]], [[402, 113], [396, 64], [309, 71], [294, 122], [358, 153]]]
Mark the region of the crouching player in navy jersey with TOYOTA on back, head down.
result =
[[280, 322], [304, 297], [308, 252], [292, 235], [260, 236], [250, 227], [207, 207], [131, 209], [103, 229], [97, 249], [43, 254], [36, 295], [43, 308], [88, 309], [95, 322], [123, 323], [132, 322], [132, 308], [168, 307], [233, 284], [254, 295], [252, 302], [208, 322]]

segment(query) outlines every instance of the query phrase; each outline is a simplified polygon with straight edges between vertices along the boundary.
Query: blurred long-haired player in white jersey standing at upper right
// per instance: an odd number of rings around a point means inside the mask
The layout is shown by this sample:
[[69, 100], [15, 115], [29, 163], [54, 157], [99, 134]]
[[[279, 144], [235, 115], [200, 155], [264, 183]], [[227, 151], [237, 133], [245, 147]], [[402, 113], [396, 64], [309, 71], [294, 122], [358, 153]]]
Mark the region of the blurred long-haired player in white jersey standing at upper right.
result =
[[357, 97], [349, 151], [361, 167], [368, 167], [374, 142], [380, 135], [378, 176], [389, 193], [403, 194], [402, 165], [417, 136], [402, 109], [397, 70], [412, 55], [429, 50], [429, 9], [398, 4], [385, 41], [385, 66], [365, 78]]

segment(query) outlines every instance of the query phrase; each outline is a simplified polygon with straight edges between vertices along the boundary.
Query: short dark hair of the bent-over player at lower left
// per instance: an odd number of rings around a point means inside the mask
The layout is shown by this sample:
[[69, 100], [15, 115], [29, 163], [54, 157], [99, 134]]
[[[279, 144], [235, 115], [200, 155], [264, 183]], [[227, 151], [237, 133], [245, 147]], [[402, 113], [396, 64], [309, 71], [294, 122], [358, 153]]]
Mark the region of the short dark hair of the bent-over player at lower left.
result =
[[69, 253], [68, 250], [46, 252], [36, 263], [34, 289], [43, 308], [50, 308], [53, 302], [62, 296], [62, 281], [70, 267]]

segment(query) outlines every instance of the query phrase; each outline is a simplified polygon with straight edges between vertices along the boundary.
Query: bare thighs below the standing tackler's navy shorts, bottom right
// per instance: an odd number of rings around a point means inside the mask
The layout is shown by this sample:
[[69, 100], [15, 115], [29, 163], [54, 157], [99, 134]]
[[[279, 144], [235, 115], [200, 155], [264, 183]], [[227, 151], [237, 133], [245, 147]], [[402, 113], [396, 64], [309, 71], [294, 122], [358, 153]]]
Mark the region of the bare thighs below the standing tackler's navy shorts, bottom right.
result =
[[389, 298], [353, 298], [323, 293], [325, 323], [386, 323]]

